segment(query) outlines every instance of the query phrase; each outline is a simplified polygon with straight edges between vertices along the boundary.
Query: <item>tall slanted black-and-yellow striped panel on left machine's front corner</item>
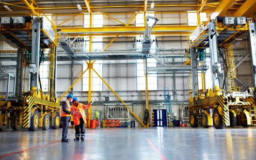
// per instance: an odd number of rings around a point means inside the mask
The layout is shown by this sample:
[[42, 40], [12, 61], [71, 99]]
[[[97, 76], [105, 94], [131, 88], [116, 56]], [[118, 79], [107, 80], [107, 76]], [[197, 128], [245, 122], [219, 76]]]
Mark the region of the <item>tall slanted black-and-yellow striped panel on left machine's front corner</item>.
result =
[[28, 104], [24, 106], [23, 111], [23, 128], [27, 129], [29, 127], [29, 119], [30, 119], [30, 110], [35, 104], [36, 97], [27, 96], [25, 97], [25, 102], [28, 100]]

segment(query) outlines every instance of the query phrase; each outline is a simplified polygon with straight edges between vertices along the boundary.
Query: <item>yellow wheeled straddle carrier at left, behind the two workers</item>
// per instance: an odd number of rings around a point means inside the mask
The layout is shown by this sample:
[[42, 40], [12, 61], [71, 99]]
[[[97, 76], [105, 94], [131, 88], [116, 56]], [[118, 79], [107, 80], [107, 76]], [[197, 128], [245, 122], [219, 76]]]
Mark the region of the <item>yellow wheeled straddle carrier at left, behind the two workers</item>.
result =
[[[37, 20], [36, 20], [37, 19]], [[60, 107], [58, 99], [55, 95], [56, 83], [56, 42], [46, 34], [45, 30], [41, 28], [42, 19], [36, 17], [31, 22], [31, 62], [29, 63], [30, 72], [30, 91], [24, 92], [24, 51], [18, 49], [17, 61], [17, 92], [14, 97], [3, 99], [5, 103], [1, 103], [0, 110], [0, 130], [5, 131], [9, 122], [13, 130], [20, 130], [22, 128], [29, 129], [29, 131], [37, 131], [39, 127], [44, 130], [49, 130], [50, 127], [58, 129], [60, 124]], [[27, 30], [25, 28], [25, 30]], [[39, 83], [39, 66], [40, 66], [40, 32], [51, 41], [50, 59], [49, 59], [49, 95], [45, 95], [38, 87]], [[0, 100], [2, 101], [2, 99]]]

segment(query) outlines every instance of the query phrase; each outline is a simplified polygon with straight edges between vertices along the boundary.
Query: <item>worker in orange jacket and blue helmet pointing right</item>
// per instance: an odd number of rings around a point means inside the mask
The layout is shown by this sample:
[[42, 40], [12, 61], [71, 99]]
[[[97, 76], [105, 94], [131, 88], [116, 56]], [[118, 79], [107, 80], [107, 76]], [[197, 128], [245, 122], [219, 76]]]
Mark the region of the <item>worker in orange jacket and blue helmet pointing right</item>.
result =
[[79, 140], [80, 136], [81, 136], [81, 140], [85, 140], [85, 122], [86, 122], [85, 109], [90, 108], [93, 101], [91, 101], [87, 105], [84, 105], [82, 103], [79, 103], [76, 97], [73, 98], [71, 113], [73, 113], [73, 121], [75, 125], [74, 140]]

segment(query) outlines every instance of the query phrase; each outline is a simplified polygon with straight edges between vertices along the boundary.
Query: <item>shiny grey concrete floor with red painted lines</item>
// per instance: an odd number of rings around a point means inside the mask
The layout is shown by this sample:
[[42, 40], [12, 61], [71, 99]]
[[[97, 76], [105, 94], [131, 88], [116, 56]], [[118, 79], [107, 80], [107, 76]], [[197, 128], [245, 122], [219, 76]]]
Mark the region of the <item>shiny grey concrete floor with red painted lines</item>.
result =
[[0, 132], [0, 159], [256, 159], [256, 129], [175, 127], [86, 130], [61, 143], [61, 129]]

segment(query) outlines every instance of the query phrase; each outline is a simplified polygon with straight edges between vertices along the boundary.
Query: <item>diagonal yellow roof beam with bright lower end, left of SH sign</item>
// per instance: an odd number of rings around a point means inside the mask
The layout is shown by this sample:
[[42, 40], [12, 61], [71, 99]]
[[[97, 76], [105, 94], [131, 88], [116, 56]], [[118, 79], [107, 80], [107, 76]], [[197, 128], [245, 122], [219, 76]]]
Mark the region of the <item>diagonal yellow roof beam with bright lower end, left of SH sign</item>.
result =
[[215, 19], [215, 17], [221, 15], [221, 12], [227, 11], [235, 1], [236, 0], [222, 0], [217, 8], [215, 8], [215, 10], [213, 11], [211, 19]]

